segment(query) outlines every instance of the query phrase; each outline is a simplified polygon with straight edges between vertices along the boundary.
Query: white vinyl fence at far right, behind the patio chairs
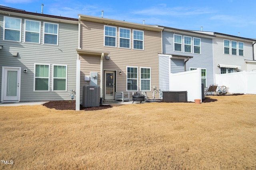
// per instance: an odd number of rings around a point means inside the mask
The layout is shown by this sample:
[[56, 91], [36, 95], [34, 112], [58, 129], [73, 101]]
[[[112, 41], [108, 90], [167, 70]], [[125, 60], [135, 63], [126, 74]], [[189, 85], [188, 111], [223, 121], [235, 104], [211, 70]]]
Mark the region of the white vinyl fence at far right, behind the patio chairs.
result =
[[228, 87], [230, 93], [256, 94], [256, 71], [216, 74], [216, 84]]

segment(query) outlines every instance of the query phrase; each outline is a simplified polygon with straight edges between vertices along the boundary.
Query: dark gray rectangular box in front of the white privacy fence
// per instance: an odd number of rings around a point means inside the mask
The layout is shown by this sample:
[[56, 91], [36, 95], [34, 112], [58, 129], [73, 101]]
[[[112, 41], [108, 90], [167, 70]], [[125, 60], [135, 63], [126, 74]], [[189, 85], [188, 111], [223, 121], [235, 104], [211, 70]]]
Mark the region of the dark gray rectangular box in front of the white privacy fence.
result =
[[163, 91], [164, 102], [187, 102], [187, 91]]

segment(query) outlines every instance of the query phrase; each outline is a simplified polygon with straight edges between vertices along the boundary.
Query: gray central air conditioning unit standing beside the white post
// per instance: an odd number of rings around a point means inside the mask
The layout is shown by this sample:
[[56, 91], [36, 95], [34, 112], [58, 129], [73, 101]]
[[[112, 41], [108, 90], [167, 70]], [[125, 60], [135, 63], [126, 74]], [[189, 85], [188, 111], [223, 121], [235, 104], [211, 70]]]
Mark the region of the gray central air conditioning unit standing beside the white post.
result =
[[83, 107], [100, 106], [100, 86], [83, 86]]

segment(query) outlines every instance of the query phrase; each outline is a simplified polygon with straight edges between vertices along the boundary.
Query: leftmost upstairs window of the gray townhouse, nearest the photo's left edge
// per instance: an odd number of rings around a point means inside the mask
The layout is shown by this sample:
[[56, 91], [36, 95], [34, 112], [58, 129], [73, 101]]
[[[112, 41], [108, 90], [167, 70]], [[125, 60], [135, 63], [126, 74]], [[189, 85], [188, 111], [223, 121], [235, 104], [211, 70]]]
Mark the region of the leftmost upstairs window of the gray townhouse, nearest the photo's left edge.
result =
[[4, 16], [4, 40], [21, 41], [21, 19]]

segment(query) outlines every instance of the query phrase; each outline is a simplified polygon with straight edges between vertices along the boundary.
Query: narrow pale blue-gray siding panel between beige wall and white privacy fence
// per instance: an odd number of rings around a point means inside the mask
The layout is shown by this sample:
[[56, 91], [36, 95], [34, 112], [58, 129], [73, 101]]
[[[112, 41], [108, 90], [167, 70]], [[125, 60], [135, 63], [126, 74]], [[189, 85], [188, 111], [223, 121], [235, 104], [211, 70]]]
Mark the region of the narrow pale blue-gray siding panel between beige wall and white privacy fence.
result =
[[169, 57], [159, 56], [159, 89], [169, 90]]

